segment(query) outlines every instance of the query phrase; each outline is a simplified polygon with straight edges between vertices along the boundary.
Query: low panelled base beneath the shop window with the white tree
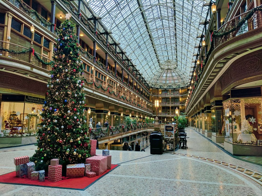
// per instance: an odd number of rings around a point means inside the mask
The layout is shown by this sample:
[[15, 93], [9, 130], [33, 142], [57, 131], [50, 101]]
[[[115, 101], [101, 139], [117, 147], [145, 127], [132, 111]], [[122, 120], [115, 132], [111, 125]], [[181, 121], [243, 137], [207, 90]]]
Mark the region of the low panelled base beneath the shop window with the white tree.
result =
[[233, 155], [242, 156], [261, 156], [262, 146], [244, 145], [244, 144], [233, 144], [224, 141], [224, 149]]

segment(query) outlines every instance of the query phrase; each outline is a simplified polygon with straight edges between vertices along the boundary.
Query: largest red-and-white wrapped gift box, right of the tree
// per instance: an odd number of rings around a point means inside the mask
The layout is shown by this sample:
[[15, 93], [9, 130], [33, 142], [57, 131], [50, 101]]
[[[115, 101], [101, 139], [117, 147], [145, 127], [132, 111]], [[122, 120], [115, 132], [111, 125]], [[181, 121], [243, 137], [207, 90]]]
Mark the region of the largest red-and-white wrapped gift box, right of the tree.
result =
[[91, 164], [91, 171], [101, 175], [107, 170], [107, 157], [94, 156], [86, 159], [86, 164]]

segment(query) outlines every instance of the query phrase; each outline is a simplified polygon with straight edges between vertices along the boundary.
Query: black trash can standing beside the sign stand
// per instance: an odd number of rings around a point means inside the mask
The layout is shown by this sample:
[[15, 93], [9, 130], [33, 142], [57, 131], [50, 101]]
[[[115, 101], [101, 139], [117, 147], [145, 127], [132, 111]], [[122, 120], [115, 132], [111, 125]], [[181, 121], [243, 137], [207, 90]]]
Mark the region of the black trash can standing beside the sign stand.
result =
[[163, 154], [163, 138], [162, 133], [152, 132], [150, 138], [150, 154]]

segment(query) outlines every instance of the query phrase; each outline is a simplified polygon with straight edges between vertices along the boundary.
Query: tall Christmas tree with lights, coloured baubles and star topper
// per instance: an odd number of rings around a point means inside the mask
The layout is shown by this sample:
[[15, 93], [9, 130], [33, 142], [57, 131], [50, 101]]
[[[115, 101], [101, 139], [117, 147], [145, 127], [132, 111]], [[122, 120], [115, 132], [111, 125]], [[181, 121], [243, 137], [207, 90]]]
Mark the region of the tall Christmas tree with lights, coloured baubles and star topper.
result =
[[83, 62], [79, 43], [70, 14], [59, 27], [59, 38], [54, 47], [51, 79], [47, 84], [41, 128], [38, 131], [37, 150], [30, 158], [36, 170], [45, 169], [53, 158], [63, 167], [85, 163], [90, 157], [89, 137], [84, 116]]

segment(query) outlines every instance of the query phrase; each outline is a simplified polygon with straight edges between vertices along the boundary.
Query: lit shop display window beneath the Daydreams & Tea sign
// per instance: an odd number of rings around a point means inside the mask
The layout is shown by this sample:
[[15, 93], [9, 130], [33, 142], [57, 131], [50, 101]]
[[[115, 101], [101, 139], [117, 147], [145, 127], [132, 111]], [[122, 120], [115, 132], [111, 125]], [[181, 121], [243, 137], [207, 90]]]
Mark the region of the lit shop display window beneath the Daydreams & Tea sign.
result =
[[36, 135], [41, 123], [42, 105], [24, 102], [1, 102], [2, 137]]

